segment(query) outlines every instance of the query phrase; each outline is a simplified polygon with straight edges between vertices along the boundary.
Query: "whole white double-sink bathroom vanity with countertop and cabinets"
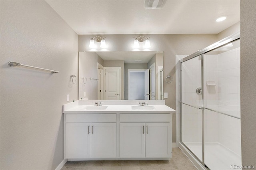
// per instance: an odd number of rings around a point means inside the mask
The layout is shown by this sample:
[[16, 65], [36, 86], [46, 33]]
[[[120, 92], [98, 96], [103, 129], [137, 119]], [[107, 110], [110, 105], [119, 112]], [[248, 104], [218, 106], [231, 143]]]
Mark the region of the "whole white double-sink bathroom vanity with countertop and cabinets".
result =
[[[75, 101], [63, 105], [64, 158], [169, 160], [172, 113], [164, 100]], [[144, 106], [138, 103], [147, 102]]]

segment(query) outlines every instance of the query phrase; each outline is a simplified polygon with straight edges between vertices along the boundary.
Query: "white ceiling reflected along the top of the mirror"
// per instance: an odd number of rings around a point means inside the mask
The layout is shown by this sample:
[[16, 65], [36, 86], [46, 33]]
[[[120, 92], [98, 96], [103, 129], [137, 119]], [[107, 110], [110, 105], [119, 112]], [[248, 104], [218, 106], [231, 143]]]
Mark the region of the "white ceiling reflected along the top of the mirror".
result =
[[124, 63], [148, 63], [156, 53], [163, 53], [163, 51], [98, 51], [96, 53], [103, 60], [124, 60]]

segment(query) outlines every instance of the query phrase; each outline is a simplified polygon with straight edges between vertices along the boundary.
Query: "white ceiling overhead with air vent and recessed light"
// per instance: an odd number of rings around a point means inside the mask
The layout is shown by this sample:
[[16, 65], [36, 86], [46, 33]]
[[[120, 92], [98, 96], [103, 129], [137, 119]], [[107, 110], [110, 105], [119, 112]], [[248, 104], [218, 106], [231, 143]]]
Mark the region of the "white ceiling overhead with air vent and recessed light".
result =
[[240, 21], [240, 0], [167, 0], [161, 9], [145, 9], [144, 0], [46, 2], [79, 35], [218, 34]]

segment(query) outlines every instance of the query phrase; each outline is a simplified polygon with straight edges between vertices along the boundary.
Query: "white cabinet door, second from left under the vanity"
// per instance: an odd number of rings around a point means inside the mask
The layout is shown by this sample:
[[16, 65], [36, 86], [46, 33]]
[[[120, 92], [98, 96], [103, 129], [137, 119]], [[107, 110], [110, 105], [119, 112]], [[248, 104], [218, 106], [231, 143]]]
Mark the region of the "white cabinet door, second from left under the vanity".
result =
[[116, 158], [116, 123], [92, 123], [92, 158]]

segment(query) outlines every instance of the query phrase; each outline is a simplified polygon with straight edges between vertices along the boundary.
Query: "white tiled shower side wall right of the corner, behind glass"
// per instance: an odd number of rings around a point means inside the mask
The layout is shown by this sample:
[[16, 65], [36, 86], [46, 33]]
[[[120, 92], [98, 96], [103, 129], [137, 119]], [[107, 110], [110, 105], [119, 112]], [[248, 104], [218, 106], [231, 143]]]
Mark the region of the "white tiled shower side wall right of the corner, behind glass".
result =
[[[240, 117], [240, 48], [218, 55], [218, 109]], [[219, 116], [219, 142], [241, 156], [240, 119]]]

